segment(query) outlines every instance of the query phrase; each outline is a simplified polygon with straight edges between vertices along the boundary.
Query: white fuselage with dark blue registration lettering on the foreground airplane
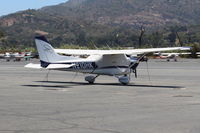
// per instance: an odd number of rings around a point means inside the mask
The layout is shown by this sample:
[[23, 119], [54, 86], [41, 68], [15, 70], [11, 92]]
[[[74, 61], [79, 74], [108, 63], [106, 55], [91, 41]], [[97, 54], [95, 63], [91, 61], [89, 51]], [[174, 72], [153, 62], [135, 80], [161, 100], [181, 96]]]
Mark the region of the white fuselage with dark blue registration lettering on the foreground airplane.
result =
[[[116, 61], [115, 58], [109, 59], [103, 56], [91, 56], [87, 59], [77, 58], [71, 61], [62, 61], [59, 64], [74, 64], [69, 68], [64, 69], [54, 69], [60, 71], [72, 71], [80, 73], [90, 73], [97, 75], [126, 75], [131, 72], [130, 65], [136, 62], [136, 60], [131, 60], [130, 58], [123, 55], [123, 60]], [[115, 55], [113, 56], [115, 57]], [[106, 63], [105, 63], [106, 62]], [[41, 64], [45, 62], [41, 62]], [[58, 62], [55, 62], [58, 64]], [[52, 63], [53, 64], [53, 63]], [[46, 64], [48, 66], [48, 64]]]

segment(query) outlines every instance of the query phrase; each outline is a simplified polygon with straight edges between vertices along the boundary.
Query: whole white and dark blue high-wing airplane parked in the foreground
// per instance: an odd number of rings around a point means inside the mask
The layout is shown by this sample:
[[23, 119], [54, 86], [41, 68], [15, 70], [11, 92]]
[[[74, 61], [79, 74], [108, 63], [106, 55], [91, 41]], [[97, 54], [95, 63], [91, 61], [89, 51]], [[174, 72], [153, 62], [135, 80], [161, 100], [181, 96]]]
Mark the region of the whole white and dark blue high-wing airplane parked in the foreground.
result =
[[[40, 64], [27, 64], [27, 68], [73, 71], [93, 74], [86, 76], [85, 80], [94, 83], [100, 75], [114, 76], [122, 84], [130, 82], [130, 74], [136, 74], [137, 66], [143, 56], [149, 52], [190, 50], [189, 47], [151, 48], [132, 50], [76, 50], [76, 49], [54, 49], [44, 36], [35, 37], [35, 43], [39, 53]], [[65, 53], [63, 56], [58, 53]], [[131, 55], [143, 54], [138, 59]], [[74, 56], [76, 55], [76, 56]], [[88, 55], [80, 58], [77, 55]]]

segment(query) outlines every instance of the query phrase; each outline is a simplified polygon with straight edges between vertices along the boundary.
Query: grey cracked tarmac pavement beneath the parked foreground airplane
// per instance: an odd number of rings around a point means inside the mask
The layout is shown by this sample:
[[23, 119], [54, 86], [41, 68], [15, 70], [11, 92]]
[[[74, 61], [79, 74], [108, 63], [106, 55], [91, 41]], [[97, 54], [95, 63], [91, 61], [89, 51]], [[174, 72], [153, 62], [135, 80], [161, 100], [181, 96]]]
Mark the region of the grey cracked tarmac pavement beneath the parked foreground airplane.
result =
[[0, 133], [200, 132], [199, 59], [142, 62], [127, 86], [27, 63], [0, 61]]

